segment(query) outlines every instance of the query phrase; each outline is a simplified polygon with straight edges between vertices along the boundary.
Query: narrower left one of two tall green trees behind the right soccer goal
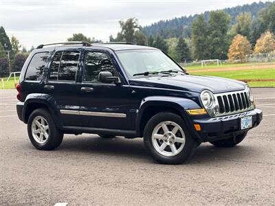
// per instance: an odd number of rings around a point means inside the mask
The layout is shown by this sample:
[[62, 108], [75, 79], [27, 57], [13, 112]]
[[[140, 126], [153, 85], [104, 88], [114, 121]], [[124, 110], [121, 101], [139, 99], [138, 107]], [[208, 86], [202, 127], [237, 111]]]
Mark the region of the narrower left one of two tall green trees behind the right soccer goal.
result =
[[192, 43], [194, 45], [194, 57], [197, 60], [209, 58], [208, 31], [208, 23], [204, 21], [201, 14], [192, 23]]

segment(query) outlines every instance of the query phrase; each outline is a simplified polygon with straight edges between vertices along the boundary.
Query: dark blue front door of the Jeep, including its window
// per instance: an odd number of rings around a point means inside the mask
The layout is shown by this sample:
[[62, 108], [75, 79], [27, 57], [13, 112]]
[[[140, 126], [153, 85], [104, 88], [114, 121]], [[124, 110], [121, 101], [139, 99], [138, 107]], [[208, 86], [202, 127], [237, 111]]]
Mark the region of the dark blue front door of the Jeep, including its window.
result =
[[130, 90], [128, 85], [99, 82], [100, 71], [118, 72], [109, 54], [87, 51], [80, 95], [80, 118], [83, 126], [129, 129]]

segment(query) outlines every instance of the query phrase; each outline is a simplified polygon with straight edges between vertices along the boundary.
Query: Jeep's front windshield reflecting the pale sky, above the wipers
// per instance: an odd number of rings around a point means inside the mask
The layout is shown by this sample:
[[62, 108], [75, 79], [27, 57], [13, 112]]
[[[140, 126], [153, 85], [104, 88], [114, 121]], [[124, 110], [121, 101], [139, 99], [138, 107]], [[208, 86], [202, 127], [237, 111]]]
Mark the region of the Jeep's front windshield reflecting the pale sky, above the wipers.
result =
[[145, 73], [144, 76], [146, 76], [148, 73], [157, 73], [159, 71], [183, 71], [181, 67], [160, 50], [133, 49], [118, 51], [116, 54], [131, 77], [142, 73]]

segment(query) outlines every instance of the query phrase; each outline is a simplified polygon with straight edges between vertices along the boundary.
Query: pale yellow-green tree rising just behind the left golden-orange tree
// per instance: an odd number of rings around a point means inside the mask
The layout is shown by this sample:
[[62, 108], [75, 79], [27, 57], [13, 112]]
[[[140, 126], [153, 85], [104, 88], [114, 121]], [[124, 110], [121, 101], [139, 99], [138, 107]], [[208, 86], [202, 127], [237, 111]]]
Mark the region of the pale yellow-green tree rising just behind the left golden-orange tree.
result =
[[252, 17], [250, 12], [241, 12], [238, 16], [236, 16], [236, 23], [232, 26], [232, 34], [241, 34], [250, 38], [252, 28]]

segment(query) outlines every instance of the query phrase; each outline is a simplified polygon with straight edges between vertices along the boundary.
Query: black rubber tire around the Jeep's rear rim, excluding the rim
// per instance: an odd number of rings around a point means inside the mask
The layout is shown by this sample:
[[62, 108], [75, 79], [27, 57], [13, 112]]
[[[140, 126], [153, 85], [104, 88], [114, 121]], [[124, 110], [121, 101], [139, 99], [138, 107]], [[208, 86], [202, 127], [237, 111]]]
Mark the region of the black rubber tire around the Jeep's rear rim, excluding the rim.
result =
[[[44, 117], [49, 125], [49, 137], [44, 144], [39, 144], [35, 141], [34, 137], [32, 137], [32, 121], [37, 116]], [[53, 150], [58, 147], [63, 140], [63, 134], [56, 128], [52, 116], [43, 108], [38, 108], [31, 113], [28, 119], [28, 136], [32, 142], [32, 145], [39, 150]]]

